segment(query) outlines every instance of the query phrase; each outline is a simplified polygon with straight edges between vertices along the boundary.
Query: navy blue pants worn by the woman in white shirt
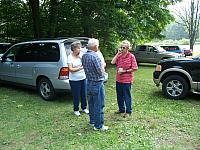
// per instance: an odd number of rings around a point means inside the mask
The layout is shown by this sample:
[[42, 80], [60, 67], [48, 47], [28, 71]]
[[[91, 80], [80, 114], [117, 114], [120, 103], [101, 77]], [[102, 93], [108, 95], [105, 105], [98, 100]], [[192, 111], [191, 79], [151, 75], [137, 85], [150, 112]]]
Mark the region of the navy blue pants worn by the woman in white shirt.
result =
[[79, 110], [79, 99], [81, 98], [81, 108], [86, 109], [86, 79], [80, 81], [71, 81], [69, 80], [69, 84], [72, 91], [73, 103], [74, 103], [74, 111]]

